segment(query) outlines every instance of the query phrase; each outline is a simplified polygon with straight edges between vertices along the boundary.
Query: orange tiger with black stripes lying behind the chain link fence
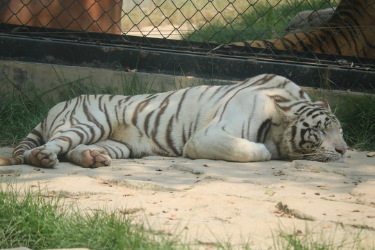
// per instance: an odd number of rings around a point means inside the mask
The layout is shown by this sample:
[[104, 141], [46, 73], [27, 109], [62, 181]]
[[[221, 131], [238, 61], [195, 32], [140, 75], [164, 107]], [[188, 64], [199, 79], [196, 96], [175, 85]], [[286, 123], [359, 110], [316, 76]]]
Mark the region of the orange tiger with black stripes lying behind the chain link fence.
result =
[[234, 45], [375, 58], [375, 0], [342, 0], [314, 31]]

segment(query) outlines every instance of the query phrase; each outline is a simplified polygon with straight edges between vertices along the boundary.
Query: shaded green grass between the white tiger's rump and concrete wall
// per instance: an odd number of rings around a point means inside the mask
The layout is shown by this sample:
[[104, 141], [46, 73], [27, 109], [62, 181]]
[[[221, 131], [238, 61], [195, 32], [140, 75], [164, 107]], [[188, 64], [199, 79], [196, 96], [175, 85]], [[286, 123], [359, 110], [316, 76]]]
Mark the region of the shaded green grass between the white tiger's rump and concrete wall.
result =
[[60, 101], [67, 101], [80, 94], [145, 94], [151, 91], [153, 84], [140, 84], [136, 76], [131, 80], [124, 78], [123, 84], [117, 86], [103, 85], [85, 78], [67, 82], [59, 72], [55, 73], [59, 81], [48, 90], [37, 88], [32, 82], [20, 87], [8, 80], [0, 85], [3, 94], [0, 99], [0, 146], [17, 144]]

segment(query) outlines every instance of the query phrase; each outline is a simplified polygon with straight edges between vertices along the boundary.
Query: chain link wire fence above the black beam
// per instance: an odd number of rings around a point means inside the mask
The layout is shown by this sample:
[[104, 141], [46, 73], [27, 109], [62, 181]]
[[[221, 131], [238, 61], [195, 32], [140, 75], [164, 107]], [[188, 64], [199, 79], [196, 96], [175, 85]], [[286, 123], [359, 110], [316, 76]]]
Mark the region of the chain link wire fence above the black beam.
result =
[[2, 33], [100, 33], [117, 44], [375, 64], [374, 0], [1, 0], [0, 24]]

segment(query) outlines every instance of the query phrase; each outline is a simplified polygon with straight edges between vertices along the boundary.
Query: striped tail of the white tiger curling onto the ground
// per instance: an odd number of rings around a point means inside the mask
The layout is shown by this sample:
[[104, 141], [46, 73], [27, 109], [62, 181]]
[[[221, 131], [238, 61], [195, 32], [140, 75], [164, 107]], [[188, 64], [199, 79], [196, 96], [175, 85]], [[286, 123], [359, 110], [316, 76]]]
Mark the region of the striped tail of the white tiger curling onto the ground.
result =
[[10, 158], [1, 158], [0, 157], [0, 166], [6, 165], [21, 165], [24, 164], [24, 153], [35, 147], [39, 147], [44, 144], [42, 136], [42, 128], [39, 124], [36, 126], [27, 136], [19, 142], [15, 151], [13, 151], [13, 156]]

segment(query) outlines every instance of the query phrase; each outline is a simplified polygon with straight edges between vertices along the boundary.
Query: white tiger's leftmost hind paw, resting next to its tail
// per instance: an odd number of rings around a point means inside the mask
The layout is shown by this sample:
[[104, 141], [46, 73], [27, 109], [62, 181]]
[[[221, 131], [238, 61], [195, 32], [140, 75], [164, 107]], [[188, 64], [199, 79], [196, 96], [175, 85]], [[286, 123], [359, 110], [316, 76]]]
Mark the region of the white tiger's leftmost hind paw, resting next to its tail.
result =
[[38, 167], [55, 167], [58, 165], [56, 153], [46, 148], [36, 148], [28, 155], [27, 163]]

